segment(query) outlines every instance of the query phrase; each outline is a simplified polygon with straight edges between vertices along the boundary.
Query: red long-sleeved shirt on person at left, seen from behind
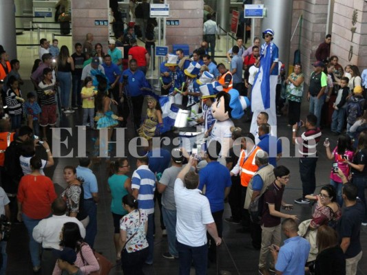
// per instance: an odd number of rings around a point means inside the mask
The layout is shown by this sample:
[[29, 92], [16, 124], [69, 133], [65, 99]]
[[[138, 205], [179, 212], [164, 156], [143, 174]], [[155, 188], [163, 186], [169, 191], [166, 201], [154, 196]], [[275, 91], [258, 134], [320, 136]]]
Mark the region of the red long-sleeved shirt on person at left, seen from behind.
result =
[[44, 219], [51, 214], [51, 203], [56, 199], [54, 184], [50, 177], [25, 175], [18, 188], [18, 201], [22, 212], [31, 219]]

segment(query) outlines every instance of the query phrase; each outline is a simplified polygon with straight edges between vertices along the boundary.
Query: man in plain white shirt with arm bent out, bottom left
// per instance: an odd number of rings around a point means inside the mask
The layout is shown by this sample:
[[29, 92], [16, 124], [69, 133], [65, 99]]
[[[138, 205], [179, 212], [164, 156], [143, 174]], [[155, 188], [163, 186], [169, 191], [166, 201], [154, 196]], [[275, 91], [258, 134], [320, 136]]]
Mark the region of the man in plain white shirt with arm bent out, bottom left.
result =
[[64, 223], [76, 223], [81, 230], [81, 236], [85, 237], [83, 224], [74, 217], [68, 217], [66, 212], [66, 202], [57, 198], [52, 203], [52, 217], [43, 219], [33, 230], [33, 239], [37, 243], [42, 243], [41, 270], [42, 274], [52, 274], [56, 263], [56, 257], [52, 253], [53, 249], [60, 249], [60, 234]]

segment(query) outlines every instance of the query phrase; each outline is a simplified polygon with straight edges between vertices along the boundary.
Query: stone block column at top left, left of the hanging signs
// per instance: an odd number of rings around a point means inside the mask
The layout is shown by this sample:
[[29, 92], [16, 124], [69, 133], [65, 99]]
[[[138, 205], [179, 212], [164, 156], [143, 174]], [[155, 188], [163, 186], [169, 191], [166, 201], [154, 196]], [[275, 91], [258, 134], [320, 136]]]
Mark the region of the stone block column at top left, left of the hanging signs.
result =
[[[109, 1], [88, 0], [72, 1], [72, 43], [82, 43], [85, 35], [91, 33], [94, 36], [93, 45], [101, 43], [103, 52], [107, 53], [107, 42], [109, 39], [108, 25], [95, 25], [95, 20], [108, 21]], [[73, 46], [74, 47], [74, 46]], [[69, 49], [73, 52], [74, 49]]]

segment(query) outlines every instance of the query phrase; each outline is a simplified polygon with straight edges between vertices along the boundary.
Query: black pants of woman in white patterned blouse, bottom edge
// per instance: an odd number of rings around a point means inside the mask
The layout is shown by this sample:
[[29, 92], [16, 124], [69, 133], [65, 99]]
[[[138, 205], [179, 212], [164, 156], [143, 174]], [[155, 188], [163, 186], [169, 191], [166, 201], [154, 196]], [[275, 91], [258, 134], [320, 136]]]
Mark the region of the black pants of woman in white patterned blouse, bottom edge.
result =
[[123, 250], [121, 252], [121, 266], [124, 275], [144, 275], [143, 265], [148, 254], [148, 248], [132, 253]]

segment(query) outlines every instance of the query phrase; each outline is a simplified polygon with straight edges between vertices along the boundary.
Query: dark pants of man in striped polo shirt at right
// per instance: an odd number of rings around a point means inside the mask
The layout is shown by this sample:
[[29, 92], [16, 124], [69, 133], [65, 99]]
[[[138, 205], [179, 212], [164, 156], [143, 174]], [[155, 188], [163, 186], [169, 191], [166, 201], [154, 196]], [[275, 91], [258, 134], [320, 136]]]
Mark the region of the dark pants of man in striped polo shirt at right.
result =
[[318, 157], [300, 157], [300, 176], [302, 181], [302, 197], [311, 195], [316, 188], [316, 164]]

